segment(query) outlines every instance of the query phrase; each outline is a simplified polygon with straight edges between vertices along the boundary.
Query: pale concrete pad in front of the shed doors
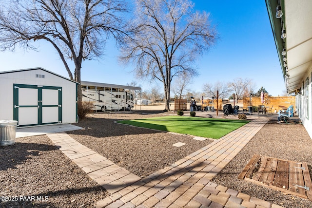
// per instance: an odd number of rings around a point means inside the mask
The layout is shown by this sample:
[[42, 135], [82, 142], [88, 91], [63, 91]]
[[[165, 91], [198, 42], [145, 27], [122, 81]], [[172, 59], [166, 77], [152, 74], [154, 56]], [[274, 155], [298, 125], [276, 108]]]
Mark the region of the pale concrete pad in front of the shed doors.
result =
[[80, 130], [81, 127], [72, 125], [72, 124], [55, 124], [55, 125], [46, 125], [46, 126], [34, 126], [19, 128], [16, 130], [16, 138], [26, 137], [26, 136], [36, 136], [44, 135], [47, 133], [57, 133], [57, 132], [68, 132], [74, 130]]

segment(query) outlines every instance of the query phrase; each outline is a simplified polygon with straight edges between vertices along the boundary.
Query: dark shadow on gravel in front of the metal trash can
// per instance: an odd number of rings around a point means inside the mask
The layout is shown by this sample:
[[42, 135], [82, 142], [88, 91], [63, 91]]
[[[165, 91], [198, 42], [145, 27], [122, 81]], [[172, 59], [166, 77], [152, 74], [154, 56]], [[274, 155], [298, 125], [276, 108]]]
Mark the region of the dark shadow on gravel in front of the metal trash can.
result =
[[54, 151], [54, 145], [16, 142], [9, 146], [0, 146], [0, 170], [17, 169], [29, 156], [38, 156], [39, 151]]

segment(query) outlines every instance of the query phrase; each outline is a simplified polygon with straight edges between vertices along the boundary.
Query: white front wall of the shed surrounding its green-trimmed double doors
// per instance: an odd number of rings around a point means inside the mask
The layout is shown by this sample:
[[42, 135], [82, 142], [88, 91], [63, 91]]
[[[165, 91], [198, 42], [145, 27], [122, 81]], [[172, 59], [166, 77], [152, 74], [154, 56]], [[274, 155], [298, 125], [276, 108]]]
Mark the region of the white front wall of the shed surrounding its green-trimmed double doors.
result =
[[76, 122], [77, 83], [40, 68], [0, 73], [0, 120], [13, 120], [13, 84], [61, 87], [62, 123]]

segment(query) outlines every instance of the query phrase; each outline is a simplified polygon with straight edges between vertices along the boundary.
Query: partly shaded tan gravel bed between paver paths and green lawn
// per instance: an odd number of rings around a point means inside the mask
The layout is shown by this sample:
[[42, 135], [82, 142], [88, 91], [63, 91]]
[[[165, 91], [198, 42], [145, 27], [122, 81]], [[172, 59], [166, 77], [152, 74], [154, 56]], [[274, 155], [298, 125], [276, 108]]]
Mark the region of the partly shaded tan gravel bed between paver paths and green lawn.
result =
[[[77, 124], [86, 130], [68, 132], [68, 134], [118, 166], [139, 177], [146, 177], [213, 142], [212, 139], [198, 141], [190, 135], [159, 132], [114, 122], [120, 119], [165, 115], [168, 113], [113, 113], [113, 115], [99, 113]], [[177, 142], [186, 145], [172, 146]]]

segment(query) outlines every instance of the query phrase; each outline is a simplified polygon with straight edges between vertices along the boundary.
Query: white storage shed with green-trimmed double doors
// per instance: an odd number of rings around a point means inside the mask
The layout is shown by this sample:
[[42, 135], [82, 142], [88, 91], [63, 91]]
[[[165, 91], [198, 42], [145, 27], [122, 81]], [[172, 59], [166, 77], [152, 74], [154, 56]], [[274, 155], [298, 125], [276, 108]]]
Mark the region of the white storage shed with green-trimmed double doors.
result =
[[42, 68], [0, 72], [0, 120], [18, 126], [77, 122], [78, 83]]

